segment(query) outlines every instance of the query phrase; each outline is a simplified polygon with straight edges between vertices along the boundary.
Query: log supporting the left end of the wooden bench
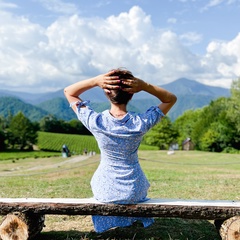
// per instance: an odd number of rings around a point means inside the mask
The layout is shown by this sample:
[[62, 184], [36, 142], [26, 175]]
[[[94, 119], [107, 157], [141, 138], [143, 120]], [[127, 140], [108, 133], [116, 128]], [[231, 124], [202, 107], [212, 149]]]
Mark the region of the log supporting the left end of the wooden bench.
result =
[[0, 239], [27, 240], [35, 237], [44, 227], [45, 216], [31, 212], [7, 214], [0, 225]]

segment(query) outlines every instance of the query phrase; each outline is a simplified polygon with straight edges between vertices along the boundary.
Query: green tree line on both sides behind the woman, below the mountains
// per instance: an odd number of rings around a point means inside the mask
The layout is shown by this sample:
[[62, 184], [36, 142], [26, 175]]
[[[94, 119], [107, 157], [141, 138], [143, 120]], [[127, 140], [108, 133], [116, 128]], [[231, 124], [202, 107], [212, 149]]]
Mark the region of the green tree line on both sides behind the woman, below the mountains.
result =
[[[168, 116], [155, 125], [143, 139], [147, 145], [169, 149], [171, 144], [182, 146], [191, 139], [195, 149], [213, 152], [238, 152], [240, 150], [240, 78], [233, 80], [231, 96], [221, 97], [208, 106], [187, 110], [174, 122]], [[90, 135], [77, 119], [69, 122], [53, 115], [40, 122], [31, 122], [19, 112], [15, 116], [0, 117], [0, 150], [6, 148], [32, 149], [37, 142], [37, 132]]]

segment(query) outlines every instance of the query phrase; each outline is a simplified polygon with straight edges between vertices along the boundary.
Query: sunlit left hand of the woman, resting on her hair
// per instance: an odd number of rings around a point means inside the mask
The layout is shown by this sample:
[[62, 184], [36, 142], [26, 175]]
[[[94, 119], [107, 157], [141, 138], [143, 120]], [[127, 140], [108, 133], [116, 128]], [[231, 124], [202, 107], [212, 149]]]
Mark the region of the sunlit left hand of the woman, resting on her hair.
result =
[[96, 84], [102, 88], [105, 92], [110, 92], [109, 90], [119, 89], [119, 77], [118, 76], [111, 76], [114, 73], [110, 71], [105, 74], [101, 74], [97, 76]]

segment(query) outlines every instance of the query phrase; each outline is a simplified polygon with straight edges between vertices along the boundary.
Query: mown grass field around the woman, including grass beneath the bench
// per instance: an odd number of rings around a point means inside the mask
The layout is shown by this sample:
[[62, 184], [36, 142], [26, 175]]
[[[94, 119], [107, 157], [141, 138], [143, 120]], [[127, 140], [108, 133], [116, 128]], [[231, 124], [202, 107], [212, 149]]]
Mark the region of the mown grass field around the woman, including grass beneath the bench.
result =
[[[140, 163], [151, 187], [149, 197], [240, 201], [240, 155], [197, 151], [140, 151]], [[0, 194], [5, 197], [91, 197], [90, 179], [99, 155], [86, 159], [25, 158], [0, 161]], [[212, 222], [156, 218], [147, 229], [131, 227], [93, 232], [90, 216], [46, 216], [35, 240], [161, 239], [219, 240]]]

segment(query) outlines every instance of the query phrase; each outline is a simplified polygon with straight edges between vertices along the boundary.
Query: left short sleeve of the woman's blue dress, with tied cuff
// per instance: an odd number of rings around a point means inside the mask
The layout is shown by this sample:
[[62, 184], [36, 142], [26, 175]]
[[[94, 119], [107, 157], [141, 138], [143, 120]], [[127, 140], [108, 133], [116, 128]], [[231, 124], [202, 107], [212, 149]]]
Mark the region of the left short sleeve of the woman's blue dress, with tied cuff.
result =
[[[70, 107], [76, 105], [77, 107], [77, 117], [82, 122], [82, 124], [91, 131], [91, 121], [93, 121], [95, 115], [97, 114], [90, 106], [90, 101], [77, 101], [70, 104]], [[85, 107], [83, 107], [85, 106]]]

